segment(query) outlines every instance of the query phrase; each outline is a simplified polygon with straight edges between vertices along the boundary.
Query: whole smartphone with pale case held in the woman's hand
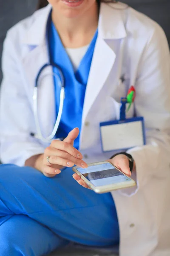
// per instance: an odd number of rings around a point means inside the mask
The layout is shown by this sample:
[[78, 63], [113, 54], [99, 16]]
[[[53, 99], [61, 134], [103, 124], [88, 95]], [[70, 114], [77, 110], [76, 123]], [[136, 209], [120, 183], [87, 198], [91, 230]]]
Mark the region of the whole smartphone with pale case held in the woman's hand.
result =
[[76, 172], [94, 192], [99, 194], [136, 185], [134, 180], [107, 161], [90, 163], [88, 164], [88, 168], [85, 169], [74, 166], [73, 171]]

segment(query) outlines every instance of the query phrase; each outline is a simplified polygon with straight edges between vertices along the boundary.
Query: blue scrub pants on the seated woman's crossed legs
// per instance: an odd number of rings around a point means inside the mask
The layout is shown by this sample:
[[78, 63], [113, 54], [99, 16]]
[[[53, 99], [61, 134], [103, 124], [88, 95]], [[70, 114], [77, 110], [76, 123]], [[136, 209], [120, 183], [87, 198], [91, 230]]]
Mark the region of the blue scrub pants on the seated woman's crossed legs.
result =
[[119, 243], [111, 194], [83, 188], [72, 174], [66, 168], [47, 178], [30, 167], [0, 166], [0, 255], [42, 256], [69, 241]]

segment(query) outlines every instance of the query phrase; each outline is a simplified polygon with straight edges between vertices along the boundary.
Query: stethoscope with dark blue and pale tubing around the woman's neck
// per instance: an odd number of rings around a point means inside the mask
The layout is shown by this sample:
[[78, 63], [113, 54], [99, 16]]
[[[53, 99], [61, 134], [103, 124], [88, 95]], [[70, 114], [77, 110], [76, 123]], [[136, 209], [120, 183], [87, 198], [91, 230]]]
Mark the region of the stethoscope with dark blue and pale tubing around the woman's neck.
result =
[[[32, 137], [42, 140], [45, 143], [50, 143], [52, 140], [54, 140], [54, 137], [55, 137], [58, 127], [59, 127], [59, 123], [61, 121], [62, 109], [63, 109], [64, 98], [65, 98], [65, 81], [64, 81], [64, 76], [63, 76], [62, 70], [56, 63], [54, 63], [52, 61], [51, 54], [50, 54], [50, 46], [49, 46], [50, 22], [51, 22], [51, 13], [48, 17], [47, 33], [46, 33], [49, 63], [46, 63], [45, 65], [43, 65], [42, 68], [40, 69], [40, 71], [38, 72], [37, 77], [35, 79], [35, 85], [34, 85], [34, 91], [33, 91], [33, 111], [34, 111], [35, 125], [37, 128], [37, 134], [34, 134], [34, 133], [30, 134]], [[58, 71], [58, 74], [53, 72], [52, 76], [53, 76], [53, 78], [57, 79], [57, 84], [60, 87], [60, 100], [59, 100], [59, 111], [58, 111], [57, 119], [56, 119], [56, 122], [54, 125], [54, 129], [50, 135], [48, 135], [47, 137], [44, 137], [42, 134], [42, 131], [41, 131], [40, 122], [39, 122], [39, 118], [38, 118], [38, 104], [37, 104], [38, 103], [38, 85], [39, 85], [40, 76], [42, 75], [42, 72], [48, 67], [51, 67], [53, 70], [55, 68]], [[58, 139], [58, 140], [60, 140], [60, 139]]]

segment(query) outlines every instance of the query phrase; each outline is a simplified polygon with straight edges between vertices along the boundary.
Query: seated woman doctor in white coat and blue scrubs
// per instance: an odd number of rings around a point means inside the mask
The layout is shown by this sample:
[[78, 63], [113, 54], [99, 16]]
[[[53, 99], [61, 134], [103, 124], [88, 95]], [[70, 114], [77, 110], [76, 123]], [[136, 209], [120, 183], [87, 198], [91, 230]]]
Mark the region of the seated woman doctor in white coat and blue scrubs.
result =
[[[49, 0], [48, 6], [8, 31], [0, 144], [1, 159], [9, 164], [0, 166], [0, 255], [46, 255], [69, 241], [119, 245], [120, 256], [170, 255], [167, 40], [148, 17], [125, 4], [103, 2]], [[32, 100], [37, 74], [49, 59], [65, 79], [56, 134], [65, 139], [51, 144], [35, 136]], [[125, 81], [120, 82], [123, 74]], [[57, 81], [45, 73], [38, 85], [44, 136], [59, 111]], [[134, 159], [131, 170], [137, 186], [97, 195], [83, 187], [71, 167], [87, 167], [115, 153], [102, 152], [99, 123], [119, 118], [120, 98], [131, 85], [136, 99], [127, 117], [144, 117], [147, 139], [146, 145], [127, 151]], [[130, 176], [126, 155], [110, 161]]]

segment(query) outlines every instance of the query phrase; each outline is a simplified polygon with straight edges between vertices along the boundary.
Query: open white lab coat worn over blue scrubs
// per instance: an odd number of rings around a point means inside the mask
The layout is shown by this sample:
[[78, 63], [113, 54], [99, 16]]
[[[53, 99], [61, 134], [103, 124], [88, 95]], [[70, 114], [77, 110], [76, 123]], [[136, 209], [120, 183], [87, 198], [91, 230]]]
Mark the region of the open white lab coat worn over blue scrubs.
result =
[[[124, 8], [121, 3], [101, 5], [80, 151], [88, 163], [111, 157], [113, 152], [102, 152], [99, 122], [119, 117], [120, 97], [135, 85], [136, 100], [128, 117], [134, 113], [144, 116], [147, 145], [128, 151], [136, 162], [133, 178], [137, 186], [112, 193], [119, 218], [119, 253], [170, 256], [170, 52], [157, 23]], [[23, 166], [46, 146], [30, 132], [36, 133], [32, 100], [35, 77], [48, 62], [45, 29], [50, 9], [48, 5], [11, 28], [4, 43], [0, 101], [0, 156], [4, 163]], [[122, 71], [125, 60], [127, 68]], [[124, 84], [119, 82], [122, 73]], [[54, 85], [49, 76], [41, 84], [39, 104], [42, 131], [49, 134], [56, 117]]]

